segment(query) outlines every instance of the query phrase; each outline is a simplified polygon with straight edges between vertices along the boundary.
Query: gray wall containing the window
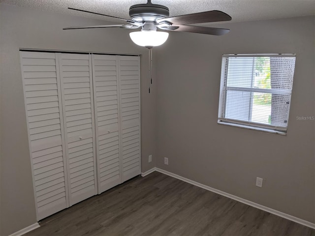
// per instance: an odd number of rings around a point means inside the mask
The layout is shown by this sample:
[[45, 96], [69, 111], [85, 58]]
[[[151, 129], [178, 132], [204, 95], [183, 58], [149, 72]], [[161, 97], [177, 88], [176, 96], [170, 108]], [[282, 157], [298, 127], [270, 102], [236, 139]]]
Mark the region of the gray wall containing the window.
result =
[[[157, 167], [314, 223], [315, 121], [296, 119], [315, 116], [314, 20], [220, 24], [231, 29], [220, 37], [172, 32], [157, 50]], [[217, 123], [221, 55], [251, 53], [296, 53], [287, 136]]]

